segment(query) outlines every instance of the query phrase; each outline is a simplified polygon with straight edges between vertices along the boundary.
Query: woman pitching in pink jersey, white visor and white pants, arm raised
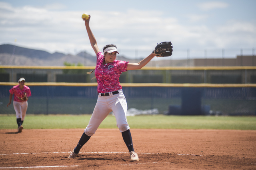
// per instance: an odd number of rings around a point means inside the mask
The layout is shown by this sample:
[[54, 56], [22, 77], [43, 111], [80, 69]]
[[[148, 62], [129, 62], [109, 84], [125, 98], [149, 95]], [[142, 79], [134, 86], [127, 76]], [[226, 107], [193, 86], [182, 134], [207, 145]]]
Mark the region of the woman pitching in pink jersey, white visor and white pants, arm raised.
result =
[[151, 53], [139, 63], [118, 61], [116, 60], [116, 54], [118, 53], [116, 45], [106, 45], [103, 48], [103, 53], [100, 52], [96, 39], [89, 27], [90, 15], [89, 19], [84, 21], [91, 46], [97, 55], [95, 76], [98, 82], [98, 100], [88, 126], [84, 129], [84, 133], [77, 146], [72, 152], [70, 151], [71, 154], [68, 158], [75, 158], [78, 155], [83, 145], [94, 135], [100, 123], [113, 111], [116, 117], [116, 125], [122, 133], [124, 143], [130, 152], [130, 161], [138, 161], [138, 154], [134, 152], [130, 127], [126, 119], [127, 103], [122, 91], [122, 86], [119, 83], [119, 76], [124, 71], [142, 68], [152, 60], [155, 55]]

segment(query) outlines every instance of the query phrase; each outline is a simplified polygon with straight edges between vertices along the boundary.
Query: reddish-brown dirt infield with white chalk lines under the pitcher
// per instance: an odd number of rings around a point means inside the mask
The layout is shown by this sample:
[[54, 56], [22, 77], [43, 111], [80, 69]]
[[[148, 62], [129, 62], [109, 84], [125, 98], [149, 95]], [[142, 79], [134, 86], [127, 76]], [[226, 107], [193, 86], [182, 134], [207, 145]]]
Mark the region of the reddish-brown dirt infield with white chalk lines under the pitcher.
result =
[[256, 169], [256, 131], [131, 129], [140, 161], [130, 162], [118, 129], [98, 129], [68, 158], [83, 129], [24, 128], [0, 130], [0, 169]]

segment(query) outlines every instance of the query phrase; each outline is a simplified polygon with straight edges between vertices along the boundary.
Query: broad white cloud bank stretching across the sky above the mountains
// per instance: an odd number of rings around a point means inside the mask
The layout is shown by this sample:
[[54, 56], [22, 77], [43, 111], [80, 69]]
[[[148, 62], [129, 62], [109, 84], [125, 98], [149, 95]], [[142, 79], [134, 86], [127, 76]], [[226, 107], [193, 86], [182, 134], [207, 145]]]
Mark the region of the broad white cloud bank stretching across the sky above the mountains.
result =
[[[61, 4], [59, 6], [64, 8]], [[232, 20], [224, 25], [209, 27], [199, 22], [206, 20], [208, 15], [187, 16], [194, 22], [191, 25], [183, 24], [178, 18], [157, 10], [86, 12], [91, 15], [90, 27], [99, 48], [114, 43], [123, 55], [132, 53], [131, 56], [134, 56], [134, 51], [139, 49], [139, 55], [145, 56], [156, 43], [162, 41], [172, 41], [174, 49], [241, 48], [241, 44], [248, 47], [256, 45], [256, 23], [249, 21]], [[94, 54], [81, 18], [83, 13], [32, 6], [12, 7], [0, 2], [0, 44], [13, 44], [17, 39], [16, 44], [19, 46], [44, 49], [51, 53], [86, 50]]]

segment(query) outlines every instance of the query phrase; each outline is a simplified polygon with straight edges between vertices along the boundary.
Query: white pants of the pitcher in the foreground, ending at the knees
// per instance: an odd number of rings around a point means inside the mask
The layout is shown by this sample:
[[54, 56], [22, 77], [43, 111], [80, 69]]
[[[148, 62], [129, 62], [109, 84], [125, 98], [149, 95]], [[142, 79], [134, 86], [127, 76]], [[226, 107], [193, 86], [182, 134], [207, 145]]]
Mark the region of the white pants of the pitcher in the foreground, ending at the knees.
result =
[[126, 99], [122, 90], [118, 90], [118, 92], [118, 94], [114, 95], [112, 95], [110, 92], [110, 96], [100, 96], [100, 94], [98, 95], [98, 100], [92, 113], [92, 117], [86, 129], [84, 129], [84, 133], [86, 135], [94, 135], [100, 123], [102, 123], [102, 121], [111, 111], [113, 111], [116, 117], [116, 125], [120, 132], [124, 132], [130, 129], [126, 119]]

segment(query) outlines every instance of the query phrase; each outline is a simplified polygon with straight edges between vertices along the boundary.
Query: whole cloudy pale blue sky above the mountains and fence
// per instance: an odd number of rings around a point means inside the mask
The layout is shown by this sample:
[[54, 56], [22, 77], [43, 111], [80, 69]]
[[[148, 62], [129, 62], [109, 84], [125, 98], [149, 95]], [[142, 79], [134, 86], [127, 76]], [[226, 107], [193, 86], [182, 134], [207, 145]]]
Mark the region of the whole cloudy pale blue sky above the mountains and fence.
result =
[[252, 54], [255, 7], [256, 0], [0, 0], [0, 44], [94, 54], [81, 19], [88, 13], [100, 49], [113, 43], [126, 57], [146, 56], [162, 41], [172, 41], [173, 59], [186, 49]]

